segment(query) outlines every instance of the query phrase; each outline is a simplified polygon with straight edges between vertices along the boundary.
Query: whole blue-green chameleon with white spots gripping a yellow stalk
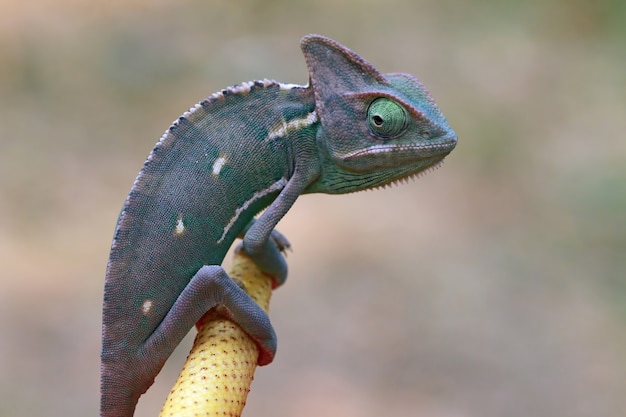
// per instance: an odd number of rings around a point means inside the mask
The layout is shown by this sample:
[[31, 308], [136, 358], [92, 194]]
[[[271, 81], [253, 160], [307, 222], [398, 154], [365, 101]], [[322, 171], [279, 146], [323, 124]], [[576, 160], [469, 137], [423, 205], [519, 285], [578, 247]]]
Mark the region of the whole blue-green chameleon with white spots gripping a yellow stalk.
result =
[[456, 146], [413, 76], [383, 74], [320, 35], [300, 46], [306, 85], [264, 79], [210, 95], [173, 122], [136, 177], [105, 277], [102, 417], [132, 416], [211, 309], [255, 341], [259, 365], [272, 362], [269, 317], [221, 267], [237, 238], [278, 287], [290, 244], [274, 228], [298, 196], [404, 181], [439, 166]]

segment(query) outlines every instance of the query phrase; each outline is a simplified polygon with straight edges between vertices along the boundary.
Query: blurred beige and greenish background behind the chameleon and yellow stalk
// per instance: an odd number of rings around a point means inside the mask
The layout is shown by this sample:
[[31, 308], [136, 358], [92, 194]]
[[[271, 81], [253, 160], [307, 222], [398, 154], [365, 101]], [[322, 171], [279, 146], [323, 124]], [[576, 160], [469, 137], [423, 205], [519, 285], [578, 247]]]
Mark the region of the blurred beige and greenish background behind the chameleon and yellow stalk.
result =
[[97, 415], [104, 271], [145, 157], [214, 91], [305, 84], [310, 32], [420, 78], [459, 145], [409, 185], [298, 200], [244, 415], [626, 415], [625, 2], [0, 6], [0, 416]]

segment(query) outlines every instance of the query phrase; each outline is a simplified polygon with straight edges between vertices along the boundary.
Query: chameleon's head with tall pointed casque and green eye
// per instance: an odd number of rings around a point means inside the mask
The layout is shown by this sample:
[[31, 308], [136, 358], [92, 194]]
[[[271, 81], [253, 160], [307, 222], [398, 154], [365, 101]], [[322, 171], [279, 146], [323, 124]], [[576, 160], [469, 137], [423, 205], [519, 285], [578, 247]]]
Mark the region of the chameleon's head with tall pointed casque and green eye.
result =
[[430, 93], [408, 74], [381, 74], [343, 45], [302, 40], [324, 152], [307, 192], [346, 193], [384, 186], [441, 163], [457, 137]]

